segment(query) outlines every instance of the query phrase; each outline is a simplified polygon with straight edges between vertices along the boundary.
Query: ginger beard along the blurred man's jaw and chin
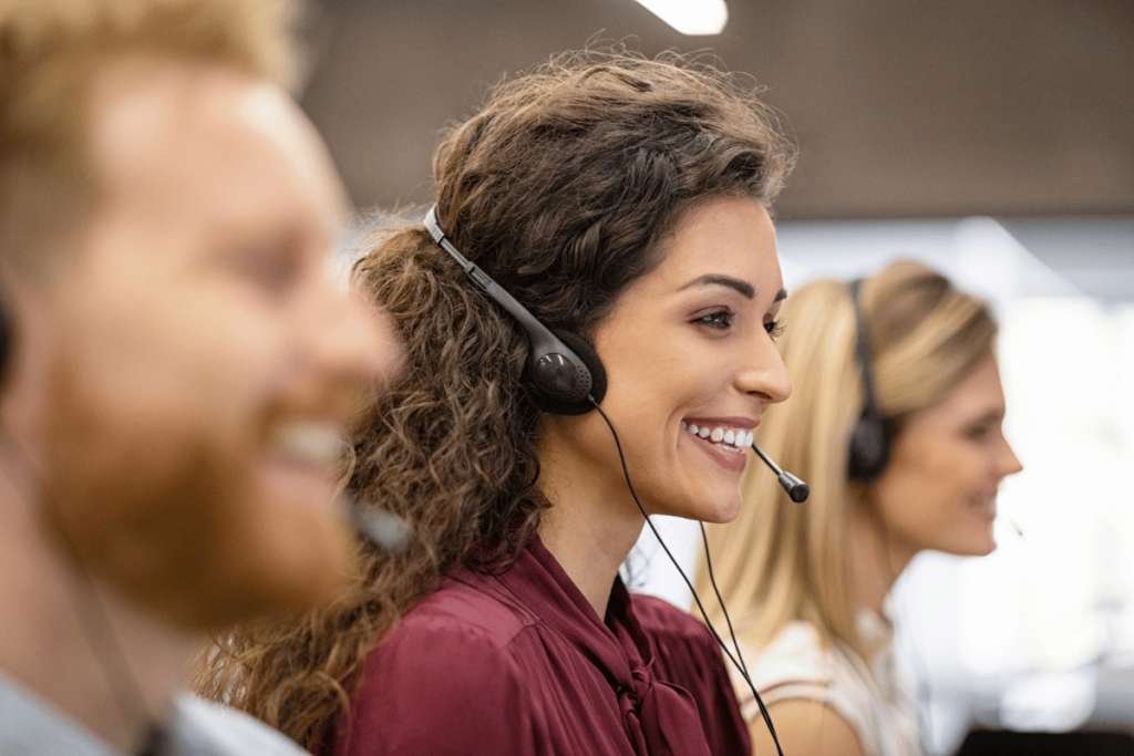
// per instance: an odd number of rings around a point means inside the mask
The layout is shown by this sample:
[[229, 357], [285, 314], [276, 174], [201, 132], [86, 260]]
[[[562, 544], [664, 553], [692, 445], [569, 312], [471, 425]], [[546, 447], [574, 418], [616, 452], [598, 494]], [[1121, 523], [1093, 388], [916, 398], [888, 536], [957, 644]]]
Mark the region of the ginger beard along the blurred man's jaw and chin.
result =
[[217, 629], [304, 609], [349, 572], [344, 520], [265, 485], [259, 442], [154, 416], [60, 381], [46, 428], [45, 502], [66, 549], [174, 623]]

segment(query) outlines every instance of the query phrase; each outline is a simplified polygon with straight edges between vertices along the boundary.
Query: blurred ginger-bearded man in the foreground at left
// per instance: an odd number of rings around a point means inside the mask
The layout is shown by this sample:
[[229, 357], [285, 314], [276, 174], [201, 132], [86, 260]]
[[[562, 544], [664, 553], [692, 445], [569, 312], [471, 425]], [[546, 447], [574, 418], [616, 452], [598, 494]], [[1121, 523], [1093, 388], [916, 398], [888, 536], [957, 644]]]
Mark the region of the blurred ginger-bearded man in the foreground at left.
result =
[[397, 359], [285, 11], [0, 3], [0, 755], [295, 748], [176, 694], [349, 579], [342, 439]]

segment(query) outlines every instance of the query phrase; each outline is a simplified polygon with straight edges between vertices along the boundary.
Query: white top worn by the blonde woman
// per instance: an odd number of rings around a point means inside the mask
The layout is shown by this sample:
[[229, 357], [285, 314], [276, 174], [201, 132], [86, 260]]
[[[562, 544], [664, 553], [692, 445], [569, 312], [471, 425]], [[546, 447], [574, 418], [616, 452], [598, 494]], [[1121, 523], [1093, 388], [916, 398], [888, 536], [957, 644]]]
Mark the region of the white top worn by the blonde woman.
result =
[[[795, 621], [767, 648], [741, 644], [752, 682], [765, 705], [806, 698], [830, 706], [854, 728], [865, 756], [922, 754], [917, 708], [897, 674], [892, 627], [868, 609], [856, 619], [864, 646], [878, 649], [869, 664], [838, 640], [823, 649], [815, 628]], [[748, 683], [731, 665], [728, 671], [744, 719], [762, 721]]]

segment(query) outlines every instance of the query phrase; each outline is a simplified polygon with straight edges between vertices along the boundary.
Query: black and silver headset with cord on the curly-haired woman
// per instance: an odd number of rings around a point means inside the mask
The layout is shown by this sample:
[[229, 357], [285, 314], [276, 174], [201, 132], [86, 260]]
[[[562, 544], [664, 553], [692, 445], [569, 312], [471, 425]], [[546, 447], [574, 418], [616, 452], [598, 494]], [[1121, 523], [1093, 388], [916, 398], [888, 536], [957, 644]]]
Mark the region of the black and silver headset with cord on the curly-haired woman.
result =
[[[599, 359], [599, 355], [594, 350], [594, 347], [575, 333], [569, 331], [552, 331], [549, 329], [526, 307], [516, 301], [510, 294], [492, 280], [492, 278], [481, 270], [480, 266], [465, 257], [465, 255], [460, 254], [438, 222], [437, 205], [429, 209], [429, 212], [425, 213], [423, 223], [437, 245], [448, 253], [450, 257], [457, 261], [457, 264], [464, 269], [465, 274], [472, 280], [476, 288], [488, 295], [490, 299], [503, 307], [505, 311], [515, 317], [519, 324], [524, 326], [524, 330], [527, 331], [528, 338], [531, 339], [531, 347], [527, 355], [527, 363], [525, 365], [525, 377], [526, 385], [528, 388], [528, 396], [532, 402], [539, 409], [553, 415], [584, 415], [594, 409], [598, 410], [599, 415], [602, 416], [602, 419], [606, 421], [607, 426], [610, 428], [610, 433], [613, 435], [615, 445], [618, 449], [618, 458], [623, 465], [623, 473], [626, 475], [626, 485], [629, 487], [631, 495], [634, 496], [634, 502], [642, 511], [642, 516], [645, 517], [646, 525], [649, 525], [650, 529], [653, 530], [654, 536], [658, 538], [658, 543], [661, 544], [661, 547], [669, 557], [669, 560], [674, 563], [674, 567], [677, 568], [677, 572], [688, 586], [691, 593], [693, 594], [693, 600], [701, 610], [701, 614], [704, 618], [709, 630], [717, 639], [717, 643], [720, 644], [725, 655], [733, 662], [736, 669], [739, 670], [741, 676], [748, 683], [748, 687], [752, 688], [756, 704], [760, 707], [760, 713], [763, 715], [764, 723], [768, 725], [768, 730], [772, 736], [772, 741], [776, 744], [776, 750], [779, 756], [782, 756], [784, 751], [780, 749], [779, 738], [776, 736], [776, 728], [772, 727], [771, 716], [768, 714], [768, 708], [764, 706], [764, 702], [760, 698], [760, 693], [756, 691], [755, 685], [753, 685], [752, 679], [748, 677], [748, 668], [745, 665], [744, 659], [741, 656], [741, 646], [736, 642], [736, 634], [733, 631], [733, 621], [729, 619], [728, 610], [725, 608], [725, 602], [721, 600], [720, 592], [717, 589], [717, 581], [712, 576], [712, 562], [709, 561], [709, 543], [705, 537], [704, 525], [701, 526], [701, 536], [705, 542], [705, 563], [709, 569], [710, 581], [712, 583], [713, 591], [717, 594], [717, 600], [720, 602], [720, 606], [723, 610], [725, 621], [728, 622], [728, 630], [733, 639], [733, 647], [736, 649], [735, 657], [729, 652], [727, 644], [717, 632], [717, 628], [714, 628], [712, 622], [709, 621], [709, 615], [705, 612], [704, 606], [701, 604], [700, 596], [697, 596], [696, 591], [693, 588], [693, 583], [685, 575], [680, 564], [677, 563], [677, 559], [674, 557], [672, 552], [669, 551], [666, 542], [662, 541], [661, 535], [658, 533], [657, 528], [654, 528], [653, 521], [646, 515], [645, 508], [638, 500], [637, 492], [634, 491], [634, 484], [631, 482], [629, 472], [626, 468], [626, 457], [623, 453], [623, 444], [618, 440], [618, 433], [615, 431], [615, 426], [611, 424], [610, 418], [607, 417], [607, 414], [602, 411], [602, 407], [600, 407], [600, 402], [607, 393], [607, 372], [606, 368], [603, 368], [602, 360]], [[756, 444], [753, 443], [752, 449], [760, 455], [760, 458], [772, 469], [773, 473], [776, 473], [780, 486], [784, 487], [793, 501], [806, 501], [810, 493], [810, 489], [806, 483], [790, 473], [786, 473], [777, 467], [776, 462], [769, 459]]]

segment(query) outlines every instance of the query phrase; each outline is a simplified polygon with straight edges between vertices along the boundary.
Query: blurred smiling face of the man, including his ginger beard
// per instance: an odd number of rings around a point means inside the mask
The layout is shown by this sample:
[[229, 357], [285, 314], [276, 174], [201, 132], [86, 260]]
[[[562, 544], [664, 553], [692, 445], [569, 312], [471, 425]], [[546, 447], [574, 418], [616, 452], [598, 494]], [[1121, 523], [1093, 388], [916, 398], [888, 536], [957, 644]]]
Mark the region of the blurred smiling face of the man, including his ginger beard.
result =
[[325, 598], [344, 424], [395, 357], [330, 273], [325, 148], [279, 90], [191, 62], [101, 74], [91, 134], [103, 202], [45, 307], [64, 541], [186, 627]]

